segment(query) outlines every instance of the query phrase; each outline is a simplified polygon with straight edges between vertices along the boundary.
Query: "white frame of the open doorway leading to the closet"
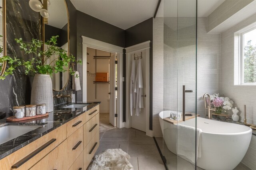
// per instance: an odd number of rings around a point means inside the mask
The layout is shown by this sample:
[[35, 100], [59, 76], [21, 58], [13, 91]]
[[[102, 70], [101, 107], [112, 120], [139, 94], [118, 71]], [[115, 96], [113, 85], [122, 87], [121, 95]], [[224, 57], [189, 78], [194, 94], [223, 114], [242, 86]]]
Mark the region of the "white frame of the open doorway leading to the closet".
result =
[[123, 79], [123, 47], [119, 47], [116, 45], [112, 45], [109, 43], [105, 43], [96, 39], [88, 38], [85, 36], [82, 37], [82, 101], [87, 102], [87, 47], [93, 48], [93, 49], [98, 49], [102, 51], [107, 51], [111, 53], [116, 53], [118, 54], [118, 64], [117, 64], [117, 69], [118, 69], [118, 78], [117, 78], [117, 84], [118, 84], [118, 97], [117, 97], [117, 120], [116, 120], [116, 126], [118, 128], [122, 128], [125, 126], [123, 120], [123, 99], [122, 99], [122, 94], [123, 94], [123, 86], [122, 86], [122, 79]]

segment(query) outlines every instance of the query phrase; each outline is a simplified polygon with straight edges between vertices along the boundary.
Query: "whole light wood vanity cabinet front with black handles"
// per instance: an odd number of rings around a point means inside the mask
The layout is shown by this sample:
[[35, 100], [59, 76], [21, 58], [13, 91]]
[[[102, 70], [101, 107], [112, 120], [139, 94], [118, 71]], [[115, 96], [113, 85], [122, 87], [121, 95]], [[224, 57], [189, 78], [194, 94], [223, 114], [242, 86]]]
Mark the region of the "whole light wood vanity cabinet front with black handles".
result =
[[86, 170], [99, 146], [99, 105], [0, 160], [0, 170]]

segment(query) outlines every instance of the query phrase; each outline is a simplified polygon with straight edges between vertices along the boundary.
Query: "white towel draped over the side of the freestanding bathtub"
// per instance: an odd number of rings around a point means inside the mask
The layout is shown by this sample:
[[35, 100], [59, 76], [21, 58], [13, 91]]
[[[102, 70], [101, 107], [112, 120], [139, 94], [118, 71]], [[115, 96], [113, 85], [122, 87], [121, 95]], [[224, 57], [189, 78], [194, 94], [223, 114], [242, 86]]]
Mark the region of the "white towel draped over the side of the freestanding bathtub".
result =
[[201, 157], [201, 129], [178, 124], [177, 154], [183, 155], [195, 163], [195, 131], [196, 131], [196, 160]]

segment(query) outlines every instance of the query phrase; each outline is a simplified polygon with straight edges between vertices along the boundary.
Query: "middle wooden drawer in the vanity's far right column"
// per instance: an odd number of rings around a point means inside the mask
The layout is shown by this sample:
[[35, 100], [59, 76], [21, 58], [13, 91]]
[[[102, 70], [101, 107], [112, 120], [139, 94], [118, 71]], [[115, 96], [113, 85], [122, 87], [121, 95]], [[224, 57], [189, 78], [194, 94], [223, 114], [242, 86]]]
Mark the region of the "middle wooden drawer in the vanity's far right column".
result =
[[84, 148], [88, 145], [90, 140], [96, 135], [99, 134], [100, 126], [100, 113], [97, 113], [84, 124]]

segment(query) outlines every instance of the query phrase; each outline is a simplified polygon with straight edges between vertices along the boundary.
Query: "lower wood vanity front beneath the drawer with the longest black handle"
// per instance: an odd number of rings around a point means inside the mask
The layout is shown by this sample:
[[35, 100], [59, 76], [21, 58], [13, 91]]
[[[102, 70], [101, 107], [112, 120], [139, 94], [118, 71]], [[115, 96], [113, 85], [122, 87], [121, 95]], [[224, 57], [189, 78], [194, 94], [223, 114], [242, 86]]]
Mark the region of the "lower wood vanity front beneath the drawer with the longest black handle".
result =
[[65, 140], [52, 152], [46, 155], [42, 160], [35, 164], [30, 170], [67, 170], [66, 160], [68, 160], [68, 154], [66, 153], [68, 143]]

